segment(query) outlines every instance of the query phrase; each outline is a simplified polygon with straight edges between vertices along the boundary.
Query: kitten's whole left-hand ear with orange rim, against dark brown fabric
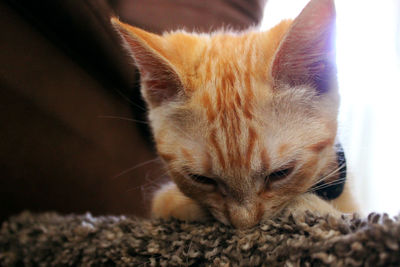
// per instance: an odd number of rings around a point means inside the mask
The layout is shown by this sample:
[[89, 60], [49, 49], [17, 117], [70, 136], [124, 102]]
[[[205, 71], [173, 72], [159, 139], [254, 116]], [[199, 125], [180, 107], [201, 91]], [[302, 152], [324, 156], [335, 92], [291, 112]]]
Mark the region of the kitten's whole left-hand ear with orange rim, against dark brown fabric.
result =
[[112, 18], [111, 23], [119, 32], [140, 72], [142, 95], [152, 107], [173, 100], [183, 91], [178, 70], [168, 59], [165, 40], [139, 28]]

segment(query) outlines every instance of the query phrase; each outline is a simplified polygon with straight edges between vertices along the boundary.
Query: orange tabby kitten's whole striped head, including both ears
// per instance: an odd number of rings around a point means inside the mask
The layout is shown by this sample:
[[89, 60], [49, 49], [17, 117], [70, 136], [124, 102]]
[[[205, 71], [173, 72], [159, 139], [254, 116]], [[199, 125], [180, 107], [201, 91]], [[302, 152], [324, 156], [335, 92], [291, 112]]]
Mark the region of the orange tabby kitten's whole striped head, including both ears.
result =
[[218, 220], [252, 226], [336, 167], [332, 0], [267, 32], [160, 36], [113, 23], [170, 176]]

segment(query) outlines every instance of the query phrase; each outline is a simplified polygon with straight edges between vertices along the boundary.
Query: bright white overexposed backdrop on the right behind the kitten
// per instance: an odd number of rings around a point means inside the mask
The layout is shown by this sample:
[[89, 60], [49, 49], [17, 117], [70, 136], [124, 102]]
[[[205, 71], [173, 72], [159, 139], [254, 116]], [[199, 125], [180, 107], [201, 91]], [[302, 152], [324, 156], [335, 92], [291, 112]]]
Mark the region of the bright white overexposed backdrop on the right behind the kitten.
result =
[[[261, 28], [307, 0], [268, 0]], [[339, 138], [364, 213], [400, 211], [400, 1], [336, 0]]]

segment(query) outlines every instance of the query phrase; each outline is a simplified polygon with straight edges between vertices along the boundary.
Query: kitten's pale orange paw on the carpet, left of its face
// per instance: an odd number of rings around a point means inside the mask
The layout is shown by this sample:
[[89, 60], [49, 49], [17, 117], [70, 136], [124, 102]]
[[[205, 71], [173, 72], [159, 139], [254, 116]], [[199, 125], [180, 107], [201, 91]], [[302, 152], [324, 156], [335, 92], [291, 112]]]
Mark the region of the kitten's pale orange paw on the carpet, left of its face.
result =
[[184, 221], [205, 221], [208, 218], [206, 211], [185, 196], [175, 183], [168, 183], [155, 193], [151, 211], [154, 218], [174, 217]]

